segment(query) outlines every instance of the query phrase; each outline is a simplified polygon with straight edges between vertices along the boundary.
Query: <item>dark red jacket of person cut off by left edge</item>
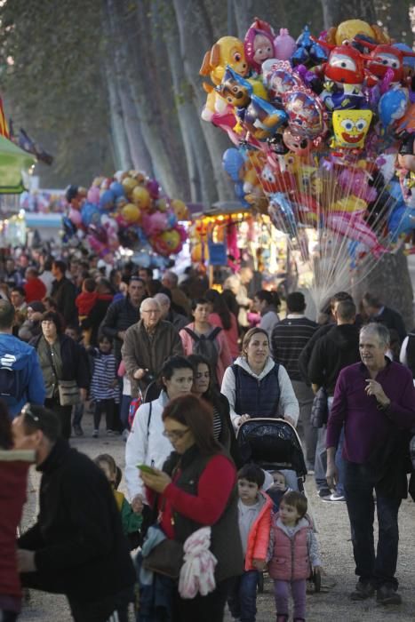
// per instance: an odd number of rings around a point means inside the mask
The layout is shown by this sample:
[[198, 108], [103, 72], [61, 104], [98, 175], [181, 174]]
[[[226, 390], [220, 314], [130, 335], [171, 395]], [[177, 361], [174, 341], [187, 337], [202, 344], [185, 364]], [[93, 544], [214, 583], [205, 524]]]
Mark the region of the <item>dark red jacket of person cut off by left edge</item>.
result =
[[16, 530], [26, 501], [28, 462], [2, 460], [0, 451], [0, 594], [20, 598]]

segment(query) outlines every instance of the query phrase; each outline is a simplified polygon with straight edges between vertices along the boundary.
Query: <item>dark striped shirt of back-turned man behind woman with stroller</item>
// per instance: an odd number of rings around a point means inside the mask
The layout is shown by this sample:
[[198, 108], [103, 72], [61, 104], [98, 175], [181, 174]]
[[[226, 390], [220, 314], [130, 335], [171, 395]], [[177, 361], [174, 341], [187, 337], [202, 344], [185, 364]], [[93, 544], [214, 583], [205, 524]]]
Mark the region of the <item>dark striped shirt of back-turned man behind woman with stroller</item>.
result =
[[303, 380], [299, 355], [317, 328], [305, 315], [291, 315], [276, 324], [271, 339], [274, 360], [285, 367], [291, 380]]

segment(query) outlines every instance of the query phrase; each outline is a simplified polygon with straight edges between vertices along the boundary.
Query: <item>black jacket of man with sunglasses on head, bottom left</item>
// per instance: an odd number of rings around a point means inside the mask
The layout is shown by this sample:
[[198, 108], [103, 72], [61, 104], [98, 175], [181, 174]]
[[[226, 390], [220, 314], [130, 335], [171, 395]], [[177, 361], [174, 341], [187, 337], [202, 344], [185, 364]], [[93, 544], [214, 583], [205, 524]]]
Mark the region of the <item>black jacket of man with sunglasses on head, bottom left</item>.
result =
[[37, 470], [42, 473], [36, 524], [18, 546], [36, 551], [37, 573], [48, 591], [76, 602], [99, 601], [132, 586], [135, 573], [121, 514], [100, 468], [59, 439]]

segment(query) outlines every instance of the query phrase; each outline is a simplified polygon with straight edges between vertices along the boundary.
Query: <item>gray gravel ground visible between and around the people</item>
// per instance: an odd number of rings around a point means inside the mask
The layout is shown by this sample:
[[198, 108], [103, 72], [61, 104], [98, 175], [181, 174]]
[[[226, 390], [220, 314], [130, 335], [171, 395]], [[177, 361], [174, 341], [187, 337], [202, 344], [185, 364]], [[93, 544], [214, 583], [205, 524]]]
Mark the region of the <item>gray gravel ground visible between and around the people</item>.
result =
[[[87, 436], [73, 439], [74, 446], [92, 458], [104, 451], [111, 453], [117, 464], [123, 467], [125, 445], [122, 439], [106, 436], [92, 439], [90, 416], [87, 416], [84, 427]], [[25, 512], [27, 523], [33, 521], [36, 516], [38, 482], [38, 475], [33, 470]], [[308, 479], [306, 490], [309, 506], [318, 526], [323, 567], [327, 572], [323, 582], [331, 585], [335, 583], [335, 586], [328, 591], [307, 596], [307, 622], [414, 622], [415, 504], [411, 500], [404, 500], [400, 512], [401, 541], [397, 577], [401, 583], [399, 591], [403, 596], [403, 605], [384, 608], [377, 605], [374, 599], [366, 602], [351, 602], [348, 598], [348, 593], [355, 586], [355, 565], [345, 504], [321, 501], [315, 494], [312, 478]], [[31, 592], [31, 600], [20, 617], [22, 622], [35, 622], [35, 620], [68, 622], [71, 619], [64, 597], [35, 591]], [[230, 620], [230, 616], [227, 616], [226, 621], [230, 622]], [[257, 622], [272, 622], [273, 620], [275, 620], [275, 604], [272, 586], [266, 579], [264, 594], [259, 594], [258, 598]]]

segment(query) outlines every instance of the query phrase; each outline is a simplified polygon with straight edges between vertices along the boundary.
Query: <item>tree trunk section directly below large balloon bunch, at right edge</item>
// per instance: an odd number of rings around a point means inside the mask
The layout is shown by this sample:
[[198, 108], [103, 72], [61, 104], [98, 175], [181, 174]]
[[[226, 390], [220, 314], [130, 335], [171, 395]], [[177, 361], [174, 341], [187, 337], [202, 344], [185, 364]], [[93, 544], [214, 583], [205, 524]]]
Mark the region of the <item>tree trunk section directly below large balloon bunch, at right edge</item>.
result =
[[[364, 264], [360, 271], [364, 274]], [[358, 277], [359, 278], [359, 277]], [[356, 280], [356, 279], [355, 279]], [[413, 327], [412, 283], [408, 270], [408, 260], [402, 250], [395, 254], [387, 253], [379, 259], [373, 270], [356, 283], [353, 298], [360, 303], [365, 291], [379, 296], [387, 307], [392, 307], [403, 316], [407, 330]]]

